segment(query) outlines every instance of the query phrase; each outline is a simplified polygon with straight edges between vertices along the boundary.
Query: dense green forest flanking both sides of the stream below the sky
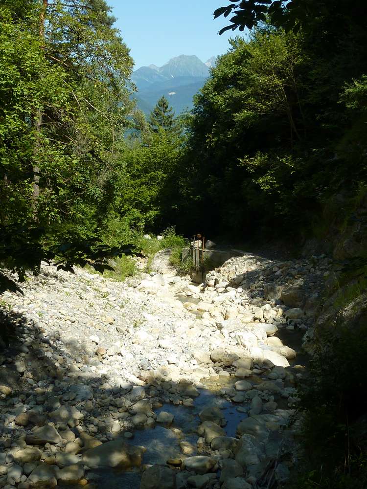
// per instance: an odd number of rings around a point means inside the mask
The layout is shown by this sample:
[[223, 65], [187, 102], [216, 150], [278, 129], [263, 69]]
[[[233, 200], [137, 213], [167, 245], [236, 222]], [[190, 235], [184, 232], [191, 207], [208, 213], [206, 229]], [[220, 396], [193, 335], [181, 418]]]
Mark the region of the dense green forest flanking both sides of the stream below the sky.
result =
[[[105, 257], [141, 255], [144, 234], [173, 228], [185, 237], [282, 236], [298, 245], [330, 241], [357, 222], [362, 236], [364, 2], [213, 2], [214, 10], [233, 37], [193, 110], [175, 114], [162, 97], [146, 117], [133, 100], [134, 60], [108, 1], [0, 0], [1, 267], [20, 279], [42, 260], [103, 271], [111, 268]], [[362, 274], [364, 239], [362, 251], [348, 256]], [[0, 292], [6, 289], [20, 290], [0, 274]], [[357, 346], [350, 355], [361, 365]], [[354, 368], [344, 350], [339, 355]], [[330, 358], [329, 378], [334, 367]], [[327, 397], [325, 379], [305, 394], [304, 408], [311, 412], [325, 396], [318, 416], [330, 427], [342, 400]], [[364, 388], [358, 376], [353, 385]], [[322, 448], [317, 429], [306, 441]], [[355, 473], [366, 474], [365, 458], [349, 455]], [[354, 485], [338, 472], [316, 483], [322, 463], [313, 463], [297, 487], [352, 489], [366, 481], [356, 475]]]

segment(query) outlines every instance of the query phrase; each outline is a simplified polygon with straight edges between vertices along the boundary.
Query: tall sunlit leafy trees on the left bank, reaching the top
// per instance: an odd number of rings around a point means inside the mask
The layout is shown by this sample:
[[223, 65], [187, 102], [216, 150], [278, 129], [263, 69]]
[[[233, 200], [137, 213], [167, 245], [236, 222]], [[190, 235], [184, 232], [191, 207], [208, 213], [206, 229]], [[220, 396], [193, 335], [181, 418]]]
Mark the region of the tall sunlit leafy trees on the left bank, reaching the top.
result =
[[53, 234], [91, 236], [130, 125], [133, 61], [104, 0], [18, 3], [0, 13], [1, 223], [37, 211]]

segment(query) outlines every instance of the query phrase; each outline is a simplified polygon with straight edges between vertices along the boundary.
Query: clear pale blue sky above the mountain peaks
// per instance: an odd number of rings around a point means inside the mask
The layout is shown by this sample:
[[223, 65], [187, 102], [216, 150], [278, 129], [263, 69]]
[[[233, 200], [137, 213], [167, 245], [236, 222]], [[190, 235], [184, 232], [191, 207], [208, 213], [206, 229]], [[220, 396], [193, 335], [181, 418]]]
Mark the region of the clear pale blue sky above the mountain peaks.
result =
[[206, 62], [228, 50], [228, 39], [239, 32], [218, 31], [227, 25], [223, 17], [213, 21], [216, 8], [227, 0], [107, 0], [117, 18], [135, 69], [154, 64], [162, 66], [180, 54], [196, 54]]

